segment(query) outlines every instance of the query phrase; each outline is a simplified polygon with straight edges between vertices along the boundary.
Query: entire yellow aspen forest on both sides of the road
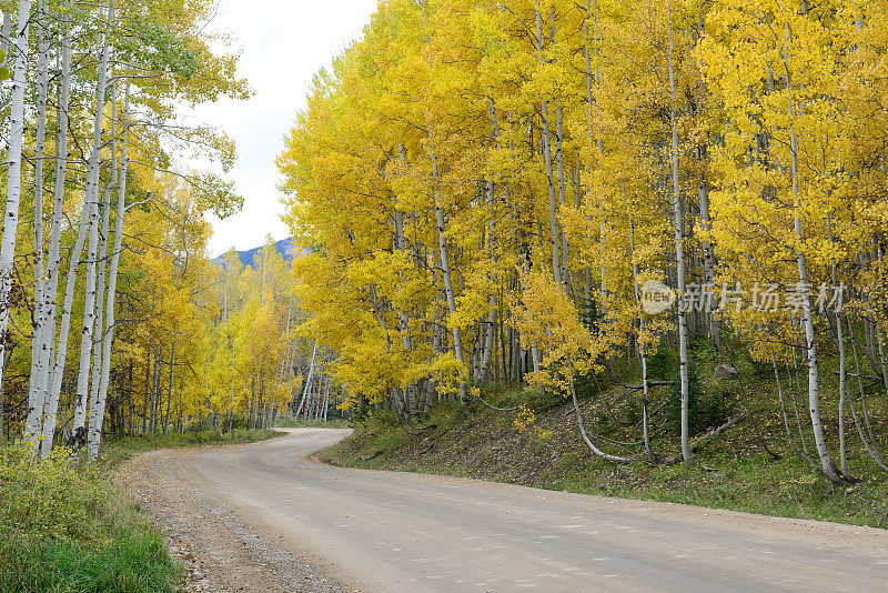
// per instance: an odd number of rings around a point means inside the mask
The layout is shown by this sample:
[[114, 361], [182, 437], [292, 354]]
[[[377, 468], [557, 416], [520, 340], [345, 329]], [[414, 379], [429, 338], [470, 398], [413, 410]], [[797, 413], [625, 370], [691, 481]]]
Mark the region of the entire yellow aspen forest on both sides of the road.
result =
[[[830, 482], [888, 471], [881, 3], [383, 1], [278, 160], [300, 255], [246, 267], [206, 249], [233, 142], [178, 107], [252, 92], [213, 3], [2, 8], [6, 439], [410, 431], [605, 384], [639, 414], [577, 416], [608, 461], [692, 465], [777, 413]], [[766, 411], [707, 400], [700, 352]]]

